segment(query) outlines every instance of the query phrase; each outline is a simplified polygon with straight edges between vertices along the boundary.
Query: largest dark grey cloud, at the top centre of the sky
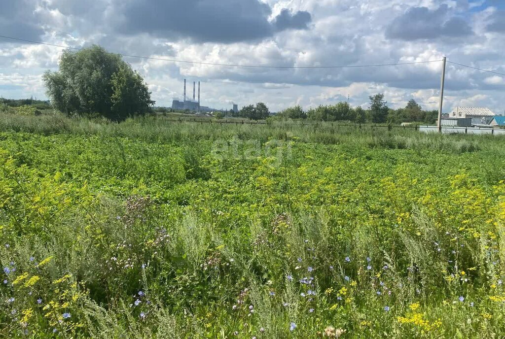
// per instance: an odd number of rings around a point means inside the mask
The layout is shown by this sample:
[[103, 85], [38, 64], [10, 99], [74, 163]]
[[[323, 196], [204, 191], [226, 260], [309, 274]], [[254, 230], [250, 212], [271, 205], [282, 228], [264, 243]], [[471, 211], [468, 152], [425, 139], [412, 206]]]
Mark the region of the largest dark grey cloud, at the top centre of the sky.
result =
[[132, 0], [118, 6], [123, 33], [198, 42], [263, 39], [286, 29], [306, 29], [311, 22], [308, 12], [283, 10], [271, 23], [271, 8], [259, 0], [156, 0], [149, 6]]

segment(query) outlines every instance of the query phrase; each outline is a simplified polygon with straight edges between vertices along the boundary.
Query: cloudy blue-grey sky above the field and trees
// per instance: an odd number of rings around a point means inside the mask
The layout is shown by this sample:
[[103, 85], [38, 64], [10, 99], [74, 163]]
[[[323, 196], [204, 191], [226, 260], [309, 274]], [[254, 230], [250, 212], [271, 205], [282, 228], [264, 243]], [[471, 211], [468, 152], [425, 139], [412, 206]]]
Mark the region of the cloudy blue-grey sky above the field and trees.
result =
[[[437, 109], [444, 56], [505, 73], [503, 0], [2, 0], [0, 35], [104, 46], [111, 52], [234, 65], [313, 67], [433, 61], [377, 68], [265, 69], [124, 58], [157, 106], [201, 82], [201, 105], [258, 101], [271, 111], [349, 100]], [[0, 95], [45, 99], [42, 73], [62, 48], [0, 38]], [[444, 111], [505, 110], [505, 77], [447, 64]]]

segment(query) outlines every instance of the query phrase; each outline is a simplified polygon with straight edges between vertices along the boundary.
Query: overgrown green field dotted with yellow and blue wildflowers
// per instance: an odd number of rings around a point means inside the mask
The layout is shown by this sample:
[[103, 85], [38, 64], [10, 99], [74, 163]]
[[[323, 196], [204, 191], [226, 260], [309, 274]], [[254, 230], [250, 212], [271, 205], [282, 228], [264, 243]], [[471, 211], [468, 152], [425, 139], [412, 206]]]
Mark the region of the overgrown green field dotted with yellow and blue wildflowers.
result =
[[505, 337], [505, 138], [0, 118], [0, 337]]

